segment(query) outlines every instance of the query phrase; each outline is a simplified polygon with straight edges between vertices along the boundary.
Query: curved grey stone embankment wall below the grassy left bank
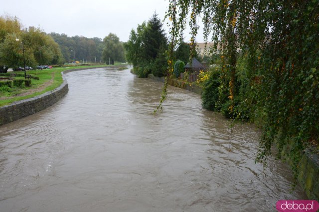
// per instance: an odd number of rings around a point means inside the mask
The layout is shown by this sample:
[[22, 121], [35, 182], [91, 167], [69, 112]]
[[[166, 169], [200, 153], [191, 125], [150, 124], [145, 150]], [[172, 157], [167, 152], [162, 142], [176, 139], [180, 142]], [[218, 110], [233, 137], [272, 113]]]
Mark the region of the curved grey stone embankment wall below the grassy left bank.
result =
[[48, 91], [39, 96], [29, 99], [13, 102], [10, 105], [0, 107], [0, 125], [7, 124], [23, 117], [37, 113], [47, 107], [50, 107], [59, 101], [69, 91], [68, 84], [64, 78], [64, 74], [71, 71], [79, 71], [86, 69], [94, 69], [96, 67], [69, 69], [61, 72], [63, 83], [52, 91]]

